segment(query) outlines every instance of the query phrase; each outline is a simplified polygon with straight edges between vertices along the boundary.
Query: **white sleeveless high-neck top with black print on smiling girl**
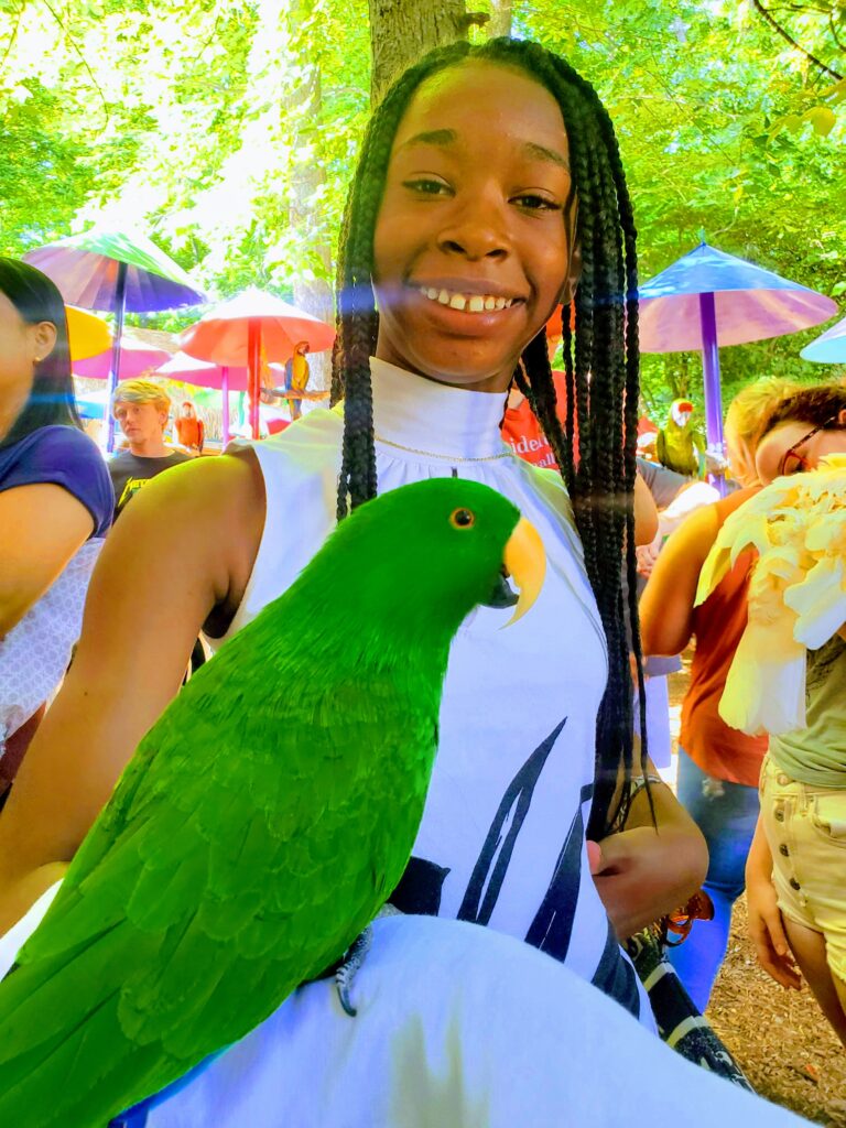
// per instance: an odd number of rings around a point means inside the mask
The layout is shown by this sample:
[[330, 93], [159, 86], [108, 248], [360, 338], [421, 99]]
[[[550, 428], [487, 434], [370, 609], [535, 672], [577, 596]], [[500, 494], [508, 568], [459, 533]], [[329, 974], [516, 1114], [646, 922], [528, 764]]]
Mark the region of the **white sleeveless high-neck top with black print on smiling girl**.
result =
[[[528, 940], [635, 1014], [647, 1011], [587, 864], [607, 653], [564, 484], [502, 441], [503, 396], [378, 360], [371, 370], [379, 492], [430, 477], [482, 482], [519, 506], [547, 555], [546, 581], [527, 616], [501, 631], [506, 615], [479, 607], [455, 638], [414, 861], [393, 900]], [[317, 411], [253, 448], [267, 515], [224, 637], [281, 594], [333, 529], [342, 430], [341, 407]], [[343, 588], [326, 599], [343, 603]], [[651, 1014], [644, 1019], [651, 1024]]]

